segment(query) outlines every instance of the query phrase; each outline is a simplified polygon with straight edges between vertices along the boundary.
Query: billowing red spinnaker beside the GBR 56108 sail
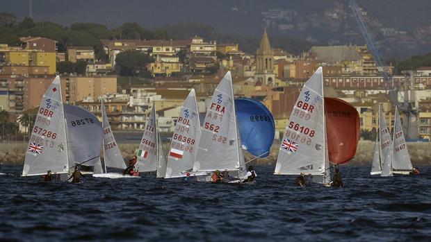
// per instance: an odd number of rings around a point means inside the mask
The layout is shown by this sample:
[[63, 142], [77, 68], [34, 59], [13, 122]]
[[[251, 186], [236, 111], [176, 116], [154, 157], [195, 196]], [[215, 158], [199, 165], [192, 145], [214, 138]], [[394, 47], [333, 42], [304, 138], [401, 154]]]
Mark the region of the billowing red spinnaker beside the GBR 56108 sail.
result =
[[349, 162], [355, 157], [360, 137], [357, 110], [341, 99], [325, 98], [325, 121], [330, 162]]

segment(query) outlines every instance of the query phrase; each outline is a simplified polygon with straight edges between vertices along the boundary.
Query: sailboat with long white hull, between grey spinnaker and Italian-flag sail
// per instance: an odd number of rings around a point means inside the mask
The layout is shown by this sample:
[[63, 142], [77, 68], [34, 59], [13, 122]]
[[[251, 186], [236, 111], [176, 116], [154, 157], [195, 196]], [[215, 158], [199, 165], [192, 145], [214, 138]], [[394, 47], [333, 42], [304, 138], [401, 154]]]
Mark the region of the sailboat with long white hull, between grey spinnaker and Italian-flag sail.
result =
[[[122, 173], [108, 173], [106, 168], [117, 168], [124, 170], [127, 166], [124, 163], [123, 157], [118, 147], [117, 141], [109, 125], [108, 116], [106, 116], [106, 109], [101, 100], [101, 123], [103, 127], [103, 153], [104, 153], [104, 169], [101, 172], [97, 172], [92, 176], [95, 178], [138, 178], [132, 175], [123, 175]], [[101, 165], [100, 165], [101, 167]]]

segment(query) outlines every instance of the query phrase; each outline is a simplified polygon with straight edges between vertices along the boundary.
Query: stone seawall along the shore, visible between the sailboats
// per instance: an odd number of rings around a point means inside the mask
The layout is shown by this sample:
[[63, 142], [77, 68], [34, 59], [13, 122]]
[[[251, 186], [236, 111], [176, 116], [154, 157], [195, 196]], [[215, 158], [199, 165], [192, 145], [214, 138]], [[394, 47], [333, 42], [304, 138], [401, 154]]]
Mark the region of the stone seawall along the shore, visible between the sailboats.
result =
[[[130, 159], [138, 148], [136, 144], [119, 144], [124, 159]], [[359, 141], [359, 146], [355, 158], [349, 163], [353, 166], [371, 166], [373, 160], [373, 141]], [[407, 143], [409, 154], [413, 166], [431, 166], [431, 142]], [[24, 157], [27, 142], [3, 143], [0, 144], [0, 163], [2, 164], [24, 164]], [[165, 152], [169, 149], [169, 144], [164, 144]], [[273, 144], [271, 153], [266, 158], [254, 159], [252, 164], [275, 164], [279, 144]], [[252, 159], [252, 155], [245, 154], [246, 160]]]

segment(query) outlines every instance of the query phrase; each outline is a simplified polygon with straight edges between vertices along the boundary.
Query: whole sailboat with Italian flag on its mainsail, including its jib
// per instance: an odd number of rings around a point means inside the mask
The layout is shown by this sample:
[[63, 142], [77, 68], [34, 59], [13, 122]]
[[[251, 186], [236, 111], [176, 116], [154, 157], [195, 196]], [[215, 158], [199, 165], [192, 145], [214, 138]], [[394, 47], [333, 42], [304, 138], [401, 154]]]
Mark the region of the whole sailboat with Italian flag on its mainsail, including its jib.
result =
[[154, 103], [136, 156], [138, 157], [138, 162], [135, 164], [135, 167], [138, 171], [156, 171], [158, 178], [165, 176], [166, 157], [158, 135], [156, 106]]

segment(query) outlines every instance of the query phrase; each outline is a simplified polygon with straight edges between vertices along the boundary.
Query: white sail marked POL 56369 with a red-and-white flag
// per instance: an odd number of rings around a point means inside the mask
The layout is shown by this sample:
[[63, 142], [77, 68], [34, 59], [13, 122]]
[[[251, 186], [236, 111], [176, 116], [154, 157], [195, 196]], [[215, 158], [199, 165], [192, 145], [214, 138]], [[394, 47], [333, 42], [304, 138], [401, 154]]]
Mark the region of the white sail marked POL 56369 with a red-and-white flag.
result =
[[199, 112], [197, 110], [195, 89], [190, 91], [179, 111], [174, 135], [168, 151], [168, 164], [165, 178], [186, 176], [193, 168], [197, 144], [201, 135]]

